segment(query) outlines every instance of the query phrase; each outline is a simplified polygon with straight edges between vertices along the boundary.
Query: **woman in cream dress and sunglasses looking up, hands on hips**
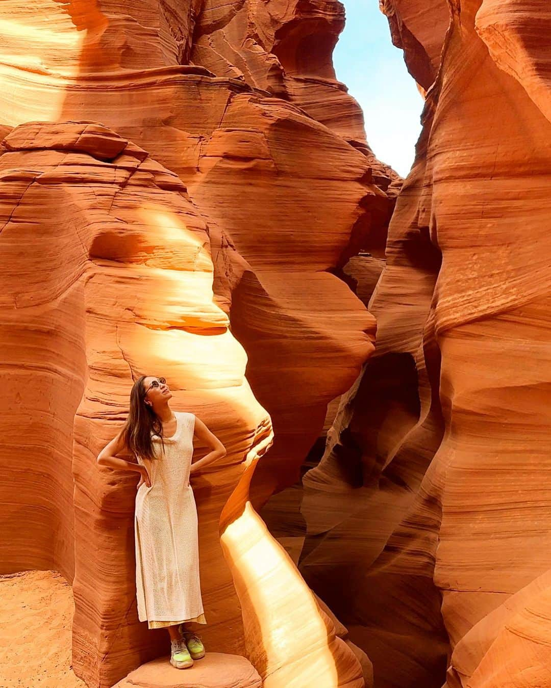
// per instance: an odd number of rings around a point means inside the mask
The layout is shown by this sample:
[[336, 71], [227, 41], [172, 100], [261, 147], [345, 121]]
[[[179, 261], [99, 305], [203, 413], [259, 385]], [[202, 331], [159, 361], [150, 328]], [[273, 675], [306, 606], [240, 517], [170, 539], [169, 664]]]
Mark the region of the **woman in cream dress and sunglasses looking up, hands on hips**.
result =
[[[189, 624], [207, 623], [203, 614], [197, 510], [189, 476], [226, 449], [193, 413], [173, 411], [165, 378], [141, 376], [130, 392], [127, 421], [98, 454], [101, 466], [140, 474], [134, 513], [138, 619], [149, 628], [167, 628], [170, 663], [191, 667], [205, 656]], [[191, 464], [194, 434], [211, 450]], [[134, 456], [138, 463], [117, 458]]]

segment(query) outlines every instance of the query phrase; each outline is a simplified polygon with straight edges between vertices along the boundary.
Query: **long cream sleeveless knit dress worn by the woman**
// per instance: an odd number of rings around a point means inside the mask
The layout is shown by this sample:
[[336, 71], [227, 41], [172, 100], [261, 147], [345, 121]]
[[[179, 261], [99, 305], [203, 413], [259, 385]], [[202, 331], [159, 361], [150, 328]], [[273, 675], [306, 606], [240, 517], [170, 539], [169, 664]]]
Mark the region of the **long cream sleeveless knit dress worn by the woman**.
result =
[[189, 469], [195, 416], [174, 411], [176, 432], [164, 438], [165, 453], [152, 433], [155, 459], [138, 456], [151, 486], [136, 492], [136, 599], [138, 619], [149, 628], [183, 621], [207, 623], [199, 578], [198, 520]]

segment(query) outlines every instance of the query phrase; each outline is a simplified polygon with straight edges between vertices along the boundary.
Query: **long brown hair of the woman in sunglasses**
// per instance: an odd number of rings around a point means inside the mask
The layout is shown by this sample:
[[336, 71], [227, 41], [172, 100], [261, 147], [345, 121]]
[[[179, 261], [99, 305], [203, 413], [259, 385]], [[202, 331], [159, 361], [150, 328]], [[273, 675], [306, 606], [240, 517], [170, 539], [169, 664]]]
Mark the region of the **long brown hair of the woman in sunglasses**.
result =
[[130, 411], [122, 429], [122, 438], [130, 453], [143, 459], [158, 458], [154, 453], [152, 431], [160, 437], [165, 452], [163, 440], [163, 423], [149, 404], [145, 403], [145, 389], [143, 380], [147, 375], [140, 376], [130, 392]]

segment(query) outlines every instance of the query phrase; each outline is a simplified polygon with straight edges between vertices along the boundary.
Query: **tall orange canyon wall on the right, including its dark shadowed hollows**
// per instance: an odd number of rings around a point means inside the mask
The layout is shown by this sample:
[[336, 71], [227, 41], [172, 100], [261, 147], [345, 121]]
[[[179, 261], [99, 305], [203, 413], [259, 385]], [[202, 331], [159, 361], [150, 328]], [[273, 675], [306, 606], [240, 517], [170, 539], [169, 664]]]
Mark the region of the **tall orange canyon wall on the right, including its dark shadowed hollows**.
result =
[[550, 14], [450, 5], [424, 47], [444, 44], [370, 303], [377, 350], [304, 477], [300, 570], [377, 688], [535, 688], [551, 630]]

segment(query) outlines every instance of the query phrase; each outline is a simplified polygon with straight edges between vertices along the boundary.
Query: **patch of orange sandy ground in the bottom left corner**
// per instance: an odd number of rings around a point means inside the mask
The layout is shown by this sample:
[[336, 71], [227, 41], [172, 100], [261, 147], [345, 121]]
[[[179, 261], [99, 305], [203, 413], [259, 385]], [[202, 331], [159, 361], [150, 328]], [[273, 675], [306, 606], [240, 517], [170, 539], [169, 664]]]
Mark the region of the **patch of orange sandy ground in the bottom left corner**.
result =
[[71, 669], [73, 612], [56, 571], [0, 576], [0, 688], [85, 688]]

